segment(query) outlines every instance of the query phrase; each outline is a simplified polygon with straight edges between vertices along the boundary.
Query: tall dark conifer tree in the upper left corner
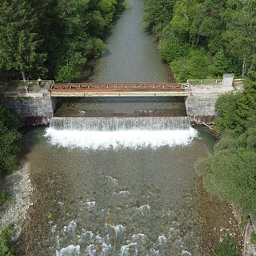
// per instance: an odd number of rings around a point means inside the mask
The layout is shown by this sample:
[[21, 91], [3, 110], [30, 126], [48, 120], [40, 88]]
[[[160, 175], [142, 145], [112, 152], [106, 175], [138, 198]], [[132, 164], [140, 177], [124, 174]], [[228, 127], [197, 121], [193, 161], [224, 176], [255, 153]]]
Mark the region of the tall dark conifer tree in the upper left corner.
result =
[[36, 15], [25, 0], [4, 0], [0, 8], [0, 67], [25, 73], [45, 71], [46, 54], [38, 53], [42, 40], [34, 31]]

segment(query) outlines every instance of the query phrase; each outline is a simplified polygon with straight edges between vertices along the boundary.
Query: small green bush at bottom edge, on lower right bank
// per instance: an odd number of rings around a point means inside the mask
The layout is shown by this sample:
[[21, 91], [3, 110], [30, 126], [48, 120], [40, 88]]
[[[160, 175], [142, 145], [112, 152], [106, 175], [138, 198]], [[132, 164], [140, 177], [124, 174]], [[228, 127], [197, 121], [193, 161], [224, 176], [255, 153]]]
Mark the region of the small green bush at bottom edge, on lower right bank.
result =
[[212, 256], [239, 256], [235, 241], [227, 236], [223, 237]]

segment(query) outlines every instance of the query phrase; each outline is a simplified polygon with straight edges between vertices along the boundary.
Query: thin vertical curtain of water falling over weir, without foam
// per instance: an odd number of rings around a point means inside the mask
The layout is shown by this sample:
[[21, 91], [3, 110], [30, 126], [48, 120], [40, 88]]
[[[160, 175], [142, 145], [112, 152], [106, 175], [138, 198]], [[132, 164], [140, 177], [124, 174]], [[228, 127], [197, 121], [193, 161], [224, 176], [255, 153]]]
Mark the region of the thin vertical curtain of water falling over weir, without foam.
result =
[[69, 131], [189, 130], [187, 116], [170, 117], [53, 117], [51, 127]]

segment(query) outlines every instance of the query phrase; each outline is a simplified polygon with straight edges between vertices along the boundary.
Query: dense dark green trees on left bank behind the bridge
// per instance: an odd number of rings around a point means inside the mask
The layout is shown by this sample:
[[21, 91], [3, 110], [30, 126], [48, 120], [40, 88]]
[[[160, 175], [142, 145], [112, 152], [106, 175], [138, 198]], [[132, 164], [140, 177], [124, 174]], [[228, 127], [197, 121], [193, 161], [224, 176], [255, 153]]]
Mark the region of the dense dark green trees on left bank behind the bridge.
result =
[[105, 53], [100, 37], [124, 0], [1, 0], [0, 68], [70, 82]]

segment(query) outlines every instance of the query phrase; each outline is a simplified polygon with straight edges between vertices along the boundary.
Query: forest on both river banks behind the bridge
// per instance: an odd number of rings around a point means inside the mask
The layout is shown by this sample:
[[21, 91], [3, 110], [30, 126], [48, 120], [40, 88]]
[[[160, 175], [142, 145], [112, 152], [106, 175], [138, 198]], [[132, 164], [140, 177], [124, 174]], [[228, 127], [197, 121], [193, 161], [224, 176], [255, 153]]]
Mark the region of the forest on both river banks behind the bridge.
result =
[[[254, 1], [144, 0], [145, 28], [177, 81], [247, 76], [255, 66]], [[0, 81], [74, 81], [106, 52], [102, 37], [125, 0], [1, 0]]]

